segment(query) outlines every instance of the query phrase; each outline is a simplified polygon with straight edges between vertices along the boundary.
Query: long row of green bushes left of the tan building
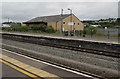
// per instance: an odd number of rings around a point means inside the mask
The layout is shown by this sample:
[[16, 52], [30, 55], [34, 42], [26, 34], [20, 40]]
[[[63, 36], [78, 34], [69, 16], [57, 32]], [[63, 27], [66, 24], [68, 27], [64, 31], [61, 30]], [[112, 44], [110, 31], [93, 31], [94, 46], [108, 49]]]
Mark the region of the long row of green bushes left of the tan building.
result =
[[18, 31], [18, 32], [47, 32], [47, 33], [54, 33], [55, 30], [52, 26], [46, 26], [44, 24], [39, 25], [30, 25], [30, 26], [11, 26], [11, 27], [4, 27], [2, 28], [4, 31]]

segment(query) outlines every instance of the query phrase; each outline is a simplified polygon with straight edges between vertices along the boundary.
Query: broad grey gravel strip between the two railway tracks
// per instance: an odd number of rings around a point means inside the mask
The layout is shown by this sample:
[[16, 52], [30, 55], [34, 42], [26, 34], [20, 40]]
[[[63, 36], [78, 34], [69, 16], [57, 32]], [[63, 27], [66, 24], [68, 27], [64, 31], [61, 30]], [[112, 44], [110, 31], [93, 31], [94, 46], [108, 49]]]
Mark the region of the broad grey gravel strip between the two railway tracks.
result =
[[41, 53], [56, 55], [63, 58], [72, 59], [78, 62], [89, 63], [92, 65], [97, 65], [105, 68], [110, 68], [113, 70], [118, 70], [118, 61], [119, 61], [118, 58], [66, 50], [66, 49], [59, 49], [59, 48], [48, 47], [48, 46], [41, 46], [41, 45], [30, 44], [30, 43], [23, 43], [23, 42], [6, 40], [6, 39], [2, 40], [2, 43], [38, 51]]

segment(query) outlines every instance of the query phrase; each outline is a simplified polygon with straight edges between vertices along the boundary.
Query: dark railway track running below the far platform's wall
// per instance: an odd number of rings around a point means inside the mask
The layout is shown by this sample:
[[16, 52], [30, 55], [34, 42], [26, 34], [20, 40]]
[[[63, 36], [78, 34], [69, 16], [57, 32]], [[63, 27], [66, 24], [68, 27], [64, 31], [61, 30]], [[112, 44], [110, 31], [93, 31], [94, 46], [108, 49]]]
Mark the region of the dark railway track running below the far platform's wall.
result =
[[116, 57], [116, 58], [120, 57], [119, 52], [86, 49], [86, 48], [82, 48], [79, 46], [75, 47], [75, 46], [69, 46], [69, 45], [61, 45], [59, 43], [51, 43], [51, 42], [41, 41], [41, 40], [38, 40], [37, 38], [30, 39], [31, 38], [30, 36], [25, 36], [25, 35], [2, 34], [2, 37], [3, 37], [3, 39], [27, 42], [27, 43], [38, 44], [38, 45], [43, 45], [43, 46], [50, 46], [50, 47], [73, 50], [73, 51], [80, 51], [80, 52], [86, 52], [86, 53], [92, 53], [92, 54], [98, 54], [98, 55], [105, 55], [105, 56], [111, 56], [111, 57]]

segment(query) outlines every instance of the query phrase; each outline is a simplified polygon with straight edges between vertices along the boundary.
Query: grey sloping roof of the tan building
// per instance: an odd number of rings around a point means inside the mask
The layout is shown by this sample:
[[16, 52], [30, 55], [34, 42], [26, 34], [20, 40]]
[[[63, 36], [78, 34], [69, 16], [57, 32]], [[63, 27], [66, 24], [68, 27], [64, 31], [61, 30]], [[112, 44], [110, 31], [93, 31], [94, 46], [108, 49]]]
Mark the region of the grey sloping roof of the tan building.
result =
[[[62, 19], [68, 17], [70, 14], [63, 14]], [[27, 22], [57, 22], [61, 20], [61, 15], [42, 16], [33, 18]]]

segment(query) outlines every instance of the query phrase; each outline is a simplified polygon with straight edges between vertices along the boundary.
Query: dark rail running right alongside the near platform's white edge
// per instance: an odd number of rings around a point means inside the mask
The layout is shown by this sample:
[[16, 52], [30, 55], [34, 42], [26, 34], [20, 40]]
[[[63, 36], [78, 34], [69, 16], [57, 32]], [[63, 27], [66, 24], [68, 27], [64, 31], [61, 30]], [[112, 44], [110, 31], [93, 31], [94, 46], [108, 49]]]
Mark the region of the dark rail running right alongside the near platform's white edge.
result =
[[[7, 50], [9, 52], [14, 52], [12, 50], [5, 49], [4, 47], [2, 48], [2, 50]], [[86, 72], [86, 71], [81, 71], [81, 70], [78, 70], [78, 69], [75, 69], [75, 68], [71, 68], [71, 67], [68, 67], [68, 66], [65, 66], [65, 65], [62, 65], [62, 64], [51, 62], [51, 61], [48, 61], [48, 60], [45, 60], [45, 59], [41, 59], [41, 58], [38, 58], [38, 57], [35, 57], [35, 56], [31, 56], [31, 55], [28, 55], [28, 54], [23, 54], [23, 53], [20, 53], [20, 52], [14, 52], [14, 53], [19, 54], [21, 56], [26, 56], [26, 57], [35, 59], [37, 61], [42, 61], [42, 62], [51, 64], [51, 65], [55, 65], [55, 66], [60, 67], [60, 68], [65, 68], [65, 69], [71, 70], [73, 72], [75, 71], [75, 72], [78, 72], [78, 73], [86, 74], [88, 76], [91, 76], [93, 79], [106, 79], [106, 78], [104, 78], [102, 76], [99, 76], [99, 75], [96, 75], [96, 74], [92, 74], [92, 73], [89, 73], [89, 72]], [[88, 78], [88, 79], [92, 79], [92, 78]]]

